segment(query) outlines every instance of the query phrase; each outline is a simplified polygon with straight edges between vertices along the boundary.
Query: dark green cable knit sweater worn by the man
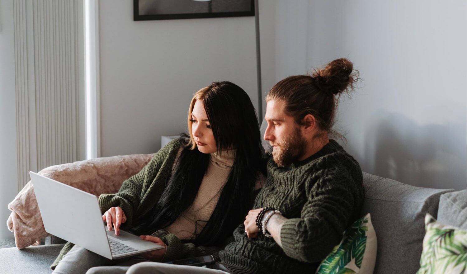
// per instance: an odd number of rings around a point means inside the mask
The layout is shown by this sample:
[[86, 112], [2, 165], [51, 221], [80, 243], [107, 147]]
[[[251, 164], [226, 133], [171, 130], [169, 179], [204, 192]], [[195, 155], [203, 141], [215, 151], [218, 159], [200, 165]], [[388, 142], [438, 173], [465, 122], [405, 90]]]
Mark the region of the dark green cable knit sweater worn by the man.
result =
[[288, 220], [282, 248], [262, 233], [248, 239], [245, 226], [219, 252], [233, 273], [314, 273], [319, 262], [339, 244], [363, 203], [363, 176], [355, 159], [334, 140], [289, 168], [268, 162], [268, 177], [254, 208], [272, 206]]

